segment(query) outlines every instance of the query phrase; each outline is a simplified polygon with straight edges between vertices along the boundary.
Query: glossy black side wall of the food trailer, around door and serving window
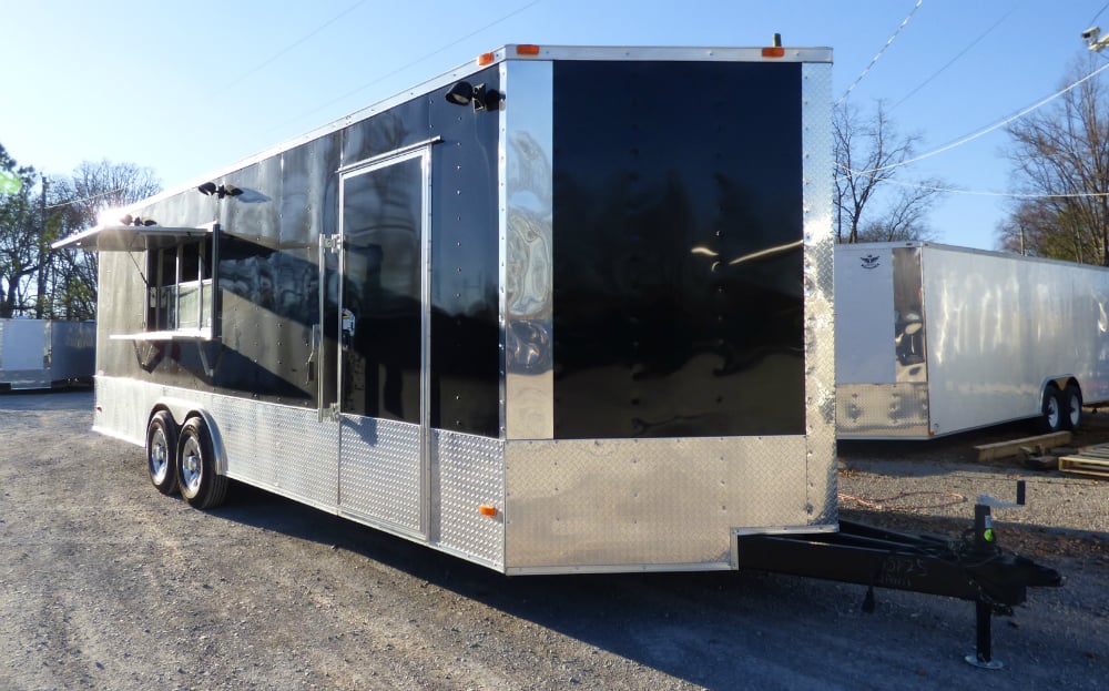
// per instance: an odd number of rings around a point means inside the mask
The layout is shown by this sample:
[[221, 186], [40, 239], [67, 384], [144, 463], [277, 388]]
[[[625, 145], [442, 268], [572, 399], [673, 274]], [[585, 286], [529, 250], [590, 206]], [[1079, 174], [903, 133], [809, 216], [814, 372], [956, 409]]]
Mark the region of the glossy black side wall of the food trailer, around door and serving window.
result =
[[[499, 83], [496, 69], [474, 79], [490, 88]], [[321, 376], [325, 405], [335, 400], [337, 258], [325, 256], [321, 286], [317, 256], [319, 235], [338, 232], [337, 171], [440, 138], [431, 152], [429, 417], [435, 427], [498, 436], [497, 136], [496, 113], [475, 113], [447, 103], [442, 93], [430, 93], [214, 181], [243, 190], [238, 196], [220, 200], [190, 189], [151, 204], [141, 214], [162, 226], [221, 224], [221, 337], [212, 344], [109, 339], [109, 334], [143, 331], [149, 273], [142, 252], [109, 252], [101, 264], [102, 295], [111, 304], [101, 309], [101, 369], [306, 407], [319, 405], [314, 377]], [[348, 285], [366, 280], [347, 276]], [[321, 324], [323, 352], [318, 370], [309, 372], [312, 329]], [[395, 334], [378, 326], [364, 332], [358, 347], [396, 350]], [[409, 343], [407, 349], [413, 347], [419, 344]], [[207, 349], [211, 376], [201, 348]], [[405, 353], [397, 362], [406, 372], [404, 386], [418, 387], [418, 353]], [[387, 377], [366, 380], [384, 387]], [[378, 395], [386, 394], [372, 392], [367, 398]], [[410, 414], [413, 406], [408, 408]]]

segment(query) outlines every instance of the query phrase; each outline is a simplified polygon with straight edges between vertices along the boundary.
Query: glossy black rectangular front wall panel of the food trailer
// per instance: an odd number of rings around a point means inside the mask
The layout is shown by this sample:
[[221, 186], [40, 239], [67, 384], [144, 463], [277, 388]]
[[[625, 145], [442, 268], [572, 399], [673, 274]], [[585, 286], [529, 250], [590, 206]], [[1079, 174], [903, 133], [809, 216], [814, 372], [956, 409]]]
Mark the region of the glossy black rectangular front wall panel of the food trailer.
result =
[[556, 437], [804, 434], [801, 64], [553, 77]]

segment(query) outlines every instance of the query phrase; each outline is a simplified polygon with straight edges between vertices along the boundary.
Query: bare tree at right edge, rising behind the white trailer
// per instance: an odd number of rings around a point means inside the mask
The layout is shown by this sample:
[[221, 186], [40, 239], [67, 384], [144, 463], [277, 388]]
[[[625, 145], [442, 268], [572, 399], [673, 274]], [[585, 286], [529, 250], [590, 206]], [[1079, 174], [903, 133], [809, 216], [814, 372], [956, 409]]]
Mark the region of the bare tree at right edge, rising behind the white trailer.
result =
[[[1090, 58], [1092, 60], [1092, 58]], [[1079, 82], [1096, 63], [1071, 70]], [[1015, 186], [1028, 195], [998, 231], [1008, 248], [1109, 266], [1109, 111], [1103, 83], [1078, 85], [1008, 128]]]

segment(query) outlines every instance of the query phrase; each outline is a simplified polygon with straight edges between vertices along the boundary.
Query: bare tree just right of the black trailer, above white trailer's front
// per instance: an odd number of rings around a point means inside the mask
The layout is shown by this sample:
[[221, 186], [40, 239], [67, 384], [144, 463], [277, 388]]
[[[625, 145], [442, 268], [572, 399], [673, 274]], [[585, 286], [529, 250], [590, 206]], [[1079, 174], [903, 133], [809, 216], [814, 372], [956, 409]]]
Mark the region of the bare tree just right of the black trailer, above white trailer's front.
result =
[[920, 135], [899, 135], [881, 101], [869, 120], [849, 103], [837, 106], [833, 135], [836, 242], [929, 238], [926, 217], [942, 183], [899, 177]]

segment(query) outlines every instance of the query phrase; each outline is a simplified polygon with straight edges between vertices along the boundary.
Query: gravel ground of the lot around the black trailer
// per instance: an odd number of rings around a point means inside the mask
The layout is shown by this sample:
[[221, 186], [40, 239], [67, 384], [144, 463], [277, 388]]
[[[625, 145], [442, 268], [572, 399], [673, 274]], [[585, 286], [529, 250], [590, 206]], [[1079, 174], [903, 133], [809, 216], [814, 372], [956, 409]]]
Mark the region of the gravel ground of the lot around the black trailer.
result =
[[0, 690], [1109, 688], [1109, 480], [970, 464], [968, 438], [845, 445], [841, 491], [853, 518], [963, 530], [974, 495], [1030, 480], [1001, 540], [1068, 582], [995, 619], [1000, 671], [963, 661], [974, 607], [949, 598], [879, 590], [864, 614], [863, 587], [779, 575], [510, 579], [244, 487], [197, 511], [91, 408], [0, 396]]

